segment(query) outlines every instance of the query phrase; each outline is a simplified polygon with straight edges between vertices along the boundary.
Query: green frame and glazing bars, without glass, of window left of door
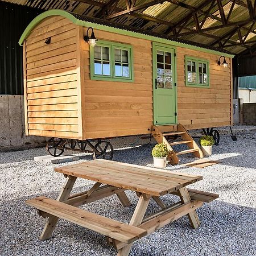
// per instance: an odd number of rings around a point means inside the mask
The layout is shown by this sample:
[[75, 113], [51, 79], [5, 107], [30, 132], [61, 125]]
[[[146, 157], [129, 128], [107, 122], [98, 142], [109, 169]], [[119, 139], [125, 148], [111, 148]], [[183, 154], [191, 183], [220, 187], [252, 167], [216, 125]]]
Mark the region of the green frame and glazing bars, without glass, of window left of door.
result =
[[[96, 59], [95, 58], [95, 49], [96, 47], [101, 47], [101, 58], [100, 59]], [[107, 58], [103, 58], [103, 54], [102, 54], [102, 49], [103, 48], [108, 48], [109, 52], [108, 52], [108, 57]], [[127, 63], [124, 63], [122, 61], [122, 54], [121, 54], [121, 60], [117, 61], [115, 60], [115, 49], [119, 49], [122, 51], [126, 51], [127, 52]], [[95, 67], [96, 67], [96, 62], [98, 64], [101, 65], [101, 74], [100, 73], [96, 73], [95, 72]], [[109, 67], [108, 67], [108, 63], [109, 63]], [[117, 74], [115, 73], [115, 64], [119, 64], [117, 65], [117, 67], [121, 67], [121, 73], [123, 75], [123, 67], [127, 66], [128, 67], [128, 71], [129, 71], [129, 76], [117, 76]], [[105, 74], [104, 74], [104, 66], [106, 67]], [[129, 44], [121, 44], [121, 43], [115, 43], [115, 42], [110, 42], [110, 41], [105, 41], [105, 40], [99, 40], [97, 42], [97, 46], [92, 47], [90, 46], [90, 79], [91, 80], [104, 80], [104, 81], [119, 81], [119, 82], [134, 82], [134, 68], [133, 68], [133, 47], [130, 46]]]

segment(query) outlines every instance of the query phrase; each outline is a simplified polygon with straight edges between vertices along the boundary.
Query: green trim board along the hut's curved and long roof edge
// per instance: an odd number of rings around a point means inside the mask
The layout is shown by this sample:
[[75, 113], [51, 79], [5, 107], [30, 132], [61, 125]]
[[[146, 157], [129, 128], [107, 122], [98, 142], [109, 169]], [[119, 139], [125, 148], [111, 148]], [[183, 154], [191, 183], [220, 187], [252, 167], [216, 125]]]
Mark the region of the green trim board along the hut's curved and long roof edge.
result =
[[22, 46], [24, 40], [30, 34], [31, 30], [40, 21], [42, 21], [43, 19], [45, 19], [49, 16], [55, 16], [55, 15], [63, 16], [64, 18], [71, 20], [74, 24], [76, 24], [78, 26], [92, 27], [92, 28], [95, 28], [98, 30], [104, 30], [104, 31], [108, 31], [108, 32], [121, 34], [121, 35], [133, 36], [135, 38], [147, 39], [147, 40], [151, 40], [153, 42], [168, 44], [169, 46], [179, 46], [179, 47], [183, 47], [183, 48], [187, 48], [187, 49], [195, 49], [195, 50], [201, 51], [201, 52], [213, 53], [215, 55], [224, 55], [225, 57], [231, 57], [231, 58], [234, 57], [234, 55], [232, 55], [232, 54], [217, 51], [217, 49], [214, 50], [214, 49], [207, 49], [207, 48], [203, 48], [203, 47], [199, 47], [199, 46], [192, 46], [190, 44], [176, 42], [176, 41], [173, 41], [170, 39], [159, 38], [157, 36], [145, 35], [145, 34], [141, 34], [139, 32], [127, 31], [127, 30], [121, 29], [121, 28], [115, 28], [115, 27], [110, 27], [110, 26], [106, 26], [106, 25], [102, 25], [102, 24], [96, 24], [93, 22], [87, 22], [84, 20], [80, 20], [80, 19], [76, 18], [73, 14], [68, 13], [67, 11], [63, 11], [63, 10], [49, 10], [42, 14], [39, 14], [35, 19], [33, 19], [30, 22], [30, 24], [28, 24], [28, 26], [27, 26], [26, 30], [24, 30], [22, 36], [20, 36], [19, 45]]

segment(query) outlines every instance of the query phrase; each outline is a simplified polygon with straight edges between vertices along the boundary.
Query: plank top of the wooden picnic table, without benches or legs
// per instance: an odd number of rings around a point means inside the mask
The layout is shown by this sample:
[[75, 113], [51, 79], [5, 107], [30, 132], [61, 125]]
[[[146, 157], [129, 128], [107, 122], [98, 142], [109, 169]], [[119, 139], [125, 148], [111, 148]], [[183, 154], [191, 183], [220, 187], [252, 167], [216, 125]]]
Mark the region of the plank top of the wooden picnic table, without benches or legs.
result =
[[57, 167], [55, 171], [152, 196], [162, 196], [203, 179], [201, 175], [183, 174], [104, 159]]

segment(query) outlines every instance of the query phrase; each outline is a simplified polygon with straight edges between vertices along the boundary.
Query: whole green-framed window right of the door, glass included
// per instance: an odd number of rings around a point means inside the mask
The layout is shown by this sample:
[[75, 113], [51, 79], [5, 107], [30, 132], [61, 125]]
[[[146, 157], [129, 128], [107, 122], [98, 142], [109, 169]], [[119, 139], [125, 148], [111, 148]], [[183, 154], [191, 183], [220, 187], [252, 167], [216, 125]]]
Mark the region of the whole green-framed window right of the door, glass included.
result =
[[185, 85], [209, 88], [209, 60], [185, 56]]

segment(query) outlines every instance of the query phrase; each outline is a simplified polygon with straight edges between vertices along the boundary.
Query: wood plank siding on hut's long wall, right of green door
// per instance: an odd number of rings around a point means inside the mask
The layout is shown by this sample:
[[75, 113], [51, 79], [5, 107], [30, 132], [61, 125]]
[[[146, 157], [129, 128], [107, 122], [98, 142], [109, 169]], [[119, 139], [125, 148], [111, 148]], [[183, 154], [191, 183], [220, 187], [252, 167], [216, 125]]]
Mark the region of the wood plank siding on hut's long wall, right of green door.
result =
[[[185, 56], [199, 57], [199, 52], [177, 47], [177, 115], [178, 122], [187, 129], [228, 126], [231, 124], [230, 65], [220, 67], [220, 56], [200, 52], [200, 58], [209, 60], [209, 88], [185, 86]], [[228, 59], [228, 63], [232, 61]]]

